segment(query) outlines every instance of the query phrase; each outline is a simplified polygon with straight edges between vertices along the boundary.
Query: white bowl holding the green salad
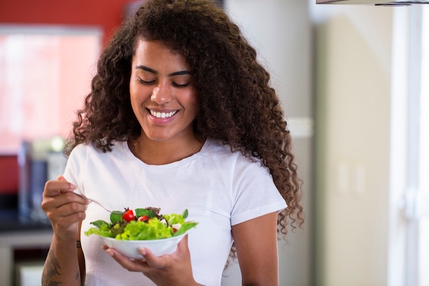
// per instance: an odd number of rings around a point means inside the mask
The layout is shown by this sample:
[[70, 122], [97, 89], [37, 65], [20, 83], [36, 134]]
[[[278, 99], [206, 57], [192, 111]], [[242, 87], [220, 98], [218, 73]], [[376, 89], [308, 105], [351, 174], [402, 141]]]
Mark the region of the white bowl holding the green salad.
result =
[[119, 240], [111, 237], [101, 237], [101, 240], [109, 248], [114, 248], [131, 259], [143, 259], [142, 254], [138, 252], [138, 248], [147, 248], [157, 257], [164, 254], [173, 254], [179, 243], [186, 233], [177, 235], [177, 237], [169, 237], [167, 239], [153, 240]]

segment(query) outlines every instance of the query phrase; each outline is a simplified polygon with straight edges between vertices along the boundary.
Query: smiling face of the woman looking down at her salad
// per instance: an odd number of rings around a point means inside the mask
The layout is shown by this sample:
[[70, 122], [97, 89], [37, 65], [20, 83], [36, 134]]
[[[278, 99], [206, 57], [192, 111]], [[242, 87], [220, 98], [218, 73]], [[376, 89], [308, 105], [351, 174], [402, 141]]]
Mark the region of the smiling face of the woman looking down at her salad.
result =
[[162, 43], [139, 40], [132, 59], [131, 104], [152, 141], [194, 136], [197, 98], [191, 67]]

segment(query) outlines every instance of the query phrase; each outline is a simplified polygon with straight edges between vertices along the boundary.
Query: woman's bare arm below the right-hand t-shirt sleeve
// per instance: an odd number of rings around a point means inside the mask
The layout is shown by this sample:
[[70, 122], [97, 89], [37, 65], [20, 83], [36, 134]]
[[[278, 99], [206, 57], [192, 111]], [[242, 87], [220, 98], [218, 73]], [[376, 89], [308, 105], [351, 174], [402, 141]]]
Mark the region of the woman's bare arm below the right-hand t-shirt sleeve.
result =
[[277, 213], [232, 226], [243, 286], [278, 286]]

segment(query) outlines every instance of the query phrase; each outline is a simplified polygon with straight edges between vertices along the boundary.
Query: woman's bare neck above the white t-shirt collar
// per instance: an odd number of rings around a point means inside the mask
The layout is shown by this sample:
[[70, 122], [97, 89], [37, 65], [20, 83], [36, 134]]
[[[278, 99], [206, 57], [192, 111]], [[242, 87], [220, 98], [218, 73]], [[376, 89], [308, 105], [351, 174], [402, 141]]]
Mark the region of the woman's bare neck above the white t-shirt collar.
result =
[[199, 152], [204, 139], [195, 136], [175, 139], [173, 141], [152, 141], [142, 134], [140, 138], [130, 141], [131, 152], [148, 165], [165, 165], [182, 160]]

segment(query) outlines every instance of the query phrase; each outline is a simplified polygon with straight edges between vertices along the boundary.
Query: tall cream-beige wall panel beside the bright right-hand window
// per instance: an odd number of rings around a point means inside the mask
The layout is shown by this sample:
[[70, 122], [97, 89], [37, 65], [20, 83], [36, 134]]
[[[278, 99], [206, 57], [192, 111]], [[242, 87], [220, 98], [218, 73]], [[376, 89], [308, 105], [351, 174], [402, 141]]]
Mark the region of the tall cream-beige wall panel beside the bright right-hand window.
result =
[[316, 285], [389, 285], [393, 9], [401, 8], [310, 5], [317, 35]]

